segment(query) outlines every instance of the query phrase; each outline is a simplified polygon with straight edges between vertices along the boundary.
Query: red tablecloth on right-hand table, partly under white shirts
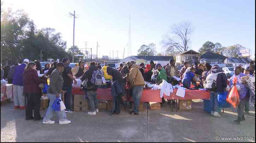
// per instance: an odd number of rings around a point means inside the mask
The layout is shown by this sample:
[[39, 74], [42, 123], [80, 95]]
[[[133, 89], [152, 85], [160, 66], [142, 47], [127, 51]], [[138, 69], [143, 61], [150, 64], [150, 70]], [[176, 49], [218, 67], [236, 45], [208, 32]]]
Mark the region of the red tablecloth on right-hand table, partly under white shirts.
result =
[[[203, 90], [186, 90], [185, 97], [182, 98], [182, 97], [176, 96], [177, 90], [178, 89], [174, 89], [173, 93], [171, 93], [170, 96], [163, 95], [163, 98], [165, 98], [165, 99], [181, 99], [181, 100], [210, 98], [210, 92], [203, 91]], [[160, 90], [159, 90], [159, 92], [160, 92]]]

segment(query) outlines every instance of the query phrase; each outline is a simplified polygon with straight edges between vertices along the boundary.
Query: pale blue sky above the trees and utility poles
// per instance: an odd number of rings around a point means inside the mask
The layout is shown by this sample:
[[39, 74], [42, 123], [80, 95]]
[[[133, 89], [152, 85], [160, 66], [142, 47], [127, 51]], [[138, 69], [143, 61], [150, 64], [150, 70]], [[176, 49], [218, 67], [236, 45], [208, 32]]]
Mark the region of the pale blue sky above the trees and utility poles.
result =
[[[191, 49], [198, 49], [207, 40], [223, 46], [240, 44], [255, 54], [255, 1], [246, 0], [4, 0], [4, 8], [24, 9], [37, 29], [51, 27], [61, 32], [67, 46], [73, 43], [73, 19], [76, 11], [75, 45], [93, 48], [99, 42], [100, 56], [119, 58], [128, 42], [128, 18], [131, 15], [132, 54], [143, 44], [160, 41], [172, 24], [190, 21], [194, 25]], [[126, 56], [126, 53], [125, 53]]]

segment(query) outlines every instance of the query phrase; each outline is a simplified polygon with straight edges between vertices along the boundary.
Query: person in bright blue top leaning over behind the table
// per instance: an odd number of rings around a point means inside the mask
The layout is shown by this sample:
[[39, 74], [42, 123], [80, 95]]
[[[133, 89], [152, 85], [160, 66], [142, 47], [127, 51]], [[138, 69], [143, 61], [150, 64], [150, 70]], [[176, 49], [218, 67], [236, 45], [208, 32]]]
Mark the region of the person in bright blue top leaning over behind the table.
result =
[[194, 67], [187, 68], [185, 73], [183, 74], [183, 79], [182, 79], [183, 87], [189, 89], [190, 85], [191, 85], [190, 84], [191, 82], [196, 82], [195, 68]]

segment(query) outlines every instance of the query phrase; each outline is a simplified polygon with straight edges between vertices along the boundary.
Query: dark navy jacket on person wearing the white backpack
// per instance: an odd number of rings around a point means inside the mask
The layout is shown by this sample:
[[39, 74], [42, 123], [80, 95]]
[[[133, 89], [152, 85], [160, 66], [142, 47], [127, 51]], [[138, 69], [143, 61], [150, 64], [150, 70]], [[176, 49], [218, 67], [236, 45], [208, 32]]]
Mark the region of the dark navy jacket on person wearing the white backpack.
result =
[[218, 73], [218, 72], [223, 72], [218, 74], [217, 77], [217, 90], [216, 92], [224, 92], [226, 91], [226, 87], [227, 87], [227, 76], [224, 73], [224, 71], [218, 67], [218, 66], [213, 66], [212, 69], [210, 70], [212, 73]]

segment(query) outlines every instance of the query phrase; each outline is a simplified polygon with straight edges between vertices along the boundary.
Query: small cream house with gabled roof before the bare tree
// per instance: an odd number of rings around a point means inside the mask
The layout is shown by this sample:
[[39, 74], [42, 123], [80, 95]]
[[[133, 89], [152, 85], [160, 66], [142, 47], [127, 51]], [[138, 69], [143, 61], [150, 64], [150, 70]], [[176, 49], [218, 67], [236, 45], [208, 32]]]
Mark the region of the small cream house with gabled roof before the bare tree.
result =
[[189, 62], [190, 64], [195, 63], [200, 61], [200, 53], [194, 51], [194, 50], [189, 50], [185, 51], [178, 56], [176, 56], [176, 65], [181, 65], [184, 62]]

